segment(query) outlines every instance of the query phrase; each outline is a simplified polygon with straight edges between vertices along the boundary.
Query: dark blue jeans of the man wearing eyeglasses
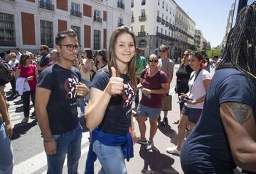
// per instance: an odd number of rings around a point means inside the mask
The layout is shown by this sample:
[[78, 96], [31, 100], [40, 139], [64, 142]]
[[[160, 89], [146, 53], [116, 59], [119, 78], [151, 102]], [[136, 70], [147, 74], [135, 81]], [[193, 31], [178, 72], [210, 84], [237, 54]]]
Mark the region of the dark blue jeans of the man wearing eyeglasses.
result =
[[81, 156], [82, 127], [78, 124], [73, 131], [53, 135], [57, 141], [57, 153], [47, 155], [47, 173], [63, 173], [65, 156], [68, 154], [68, 173], [78, 173], [78, 162]]

